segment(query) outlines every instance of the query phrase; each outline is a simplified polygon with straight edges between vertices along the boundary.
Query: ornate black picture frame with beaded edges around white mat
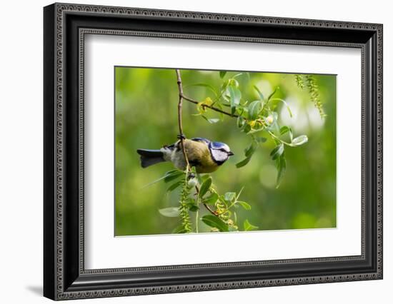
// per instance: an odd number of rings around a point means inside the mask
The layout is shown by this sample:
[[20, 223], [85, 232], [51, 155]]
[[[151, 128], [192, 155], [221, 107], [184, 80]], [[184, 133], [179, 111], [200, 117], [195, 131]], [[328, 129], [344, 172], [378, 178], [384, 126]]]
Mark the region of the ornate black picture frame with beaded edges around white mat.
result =
[[[85, 34], [362, 49], [362, 255], [85, 270]], [[369, 279], [382, 279], [381, 24], [74, 4], [44, 8], [46, 297], [64, 300]]]

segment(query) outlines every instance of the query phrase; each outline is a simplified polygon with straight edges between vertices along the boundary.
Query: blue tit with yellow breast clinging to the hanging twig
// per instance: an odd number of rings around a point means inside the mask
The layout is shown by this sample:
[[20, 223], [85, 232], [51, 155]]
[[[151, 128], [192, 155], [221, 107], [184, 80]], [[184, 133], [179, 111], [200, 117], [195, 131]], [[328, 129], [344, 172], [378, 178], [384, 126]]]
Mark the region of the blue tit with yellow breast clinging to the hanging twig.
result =
[[[209, 141], [206, 138], [184, 139], [184, 149], [190, 166], [195, 167], [197, 173], [214, 172], [228, 160], [229, 156], [234, 155], [226, 143]], [[180, 170], [186, 168], [180, 141], [164, 146], [160, 150], [138, 149], [137, 153], [141, 156], [142, 168], [163, 161], [171, 161]]]

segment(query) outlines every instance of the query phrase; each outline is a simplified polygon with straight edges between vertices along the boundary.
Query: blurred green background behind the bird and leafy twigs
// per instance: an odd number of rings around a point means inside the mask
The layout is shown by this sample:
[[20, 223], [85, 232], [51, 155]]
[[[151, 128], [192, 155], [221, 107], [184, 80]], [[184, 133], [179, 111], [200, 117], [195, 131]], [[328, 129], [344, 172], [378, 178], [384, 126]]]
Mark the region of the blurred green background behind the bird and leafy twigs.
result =
[[[238, 72], [228, 72], [225, 79]], [[208, 83], [219, 89], [222, 79], [218, 71], [181, 70], [186, 96], [204, 100], [212, 96], [208, 88], [191, 86]], [[287, 101], [294, 114], [279, 108], [280, 125], [291, 126], [294, 136], [306, 134], [309, 142], [297, 148], [286, 148], [287, 173], [277, 189], [277, 169], [269, 153], [274, 142], [268, 140], [242, 168], [235, 163], [244, 158], [250, 138], [241, 133], [236, 120], [211, 124], [197, 113], [196, 105], [184, 101], [183, 124], [188, 138], [205, 137], [227, 143], [235, 156], [212, 173], [219, 193], [239, 191], [251, 211], [237, 210], [239, 220], [259, 230], [298, 228], [332, 228], [336, 226], [336, 76], [314, 75], [324, 103], [326, 118], [321, 118], [310, 101], [307, 88], [298, 88], [294, 74], [247, 73], [237, 77], [242, 99], [253, 101], [259, 87], [264, 96], [279, 86], [275, 97]], [[141, 69], [115, 67], [115, 235], [146, 235], [171, 233], [179, 225], [178, 218], [166, 218], [160, 208], [178, 206], [178, 193], [166, 193], [167, 184], [146, 184], [164, 175], [173, 167], [159, 163], [141, 168], [137, 148], [161, 148], [174, 143], [177, 125], [178, 87], [174, 69]], [[280, 106], [281, 107], [281, 106]], [[209, 118], [218, 118], [208, 111]], [[262, 134], [261, 134], [262, 135]], [[201, 208], [201, 216], [207, 214]], [[200, 230], [209, 228], [200, 223]]]

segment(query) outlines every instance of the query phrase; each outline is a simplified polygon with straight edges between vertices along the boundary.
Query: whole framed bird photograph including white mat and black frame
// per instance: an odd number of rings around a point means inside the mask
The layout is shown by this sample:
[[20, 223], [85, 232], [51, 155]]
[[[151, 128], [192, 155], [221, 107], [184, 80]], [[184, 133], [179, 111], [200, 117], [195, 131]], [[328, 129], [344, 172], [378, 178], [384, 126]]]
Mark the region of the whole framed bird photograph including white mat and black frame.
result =
[[382, 279], [382, 25], [44, 8], [44, 295]]

